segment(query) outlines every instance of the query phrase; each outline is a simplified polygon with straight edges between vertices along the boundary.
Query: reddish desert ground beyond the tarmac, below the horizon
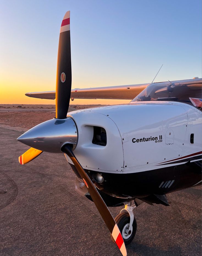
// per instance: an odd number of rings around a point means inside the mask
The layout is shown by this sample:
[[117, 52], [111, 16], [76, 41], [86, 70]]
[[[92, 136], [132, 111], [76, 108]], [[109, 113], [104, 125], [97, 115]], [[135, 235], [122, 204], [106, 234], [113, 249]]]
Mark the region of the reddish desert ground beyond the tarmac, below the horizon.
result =
[[[68, 112], [102, 105], [70, 105]], [[26, 111], [27, 110], [27, 111]], [[55, 117], [55, 105], [0, 104], [0, 127], [25, 132]]]

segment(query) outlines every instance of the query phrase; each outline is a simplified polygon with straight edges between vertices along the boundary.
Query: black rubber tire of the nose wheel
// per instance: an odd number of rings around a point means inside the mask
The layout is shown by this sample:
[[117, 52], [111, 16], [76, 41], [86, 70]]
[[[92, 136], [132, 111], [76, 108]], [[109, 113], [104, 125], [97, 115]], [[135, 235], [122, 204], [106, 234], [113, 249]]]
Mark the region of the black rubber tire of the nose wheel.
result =
[[[137, 222], [135, 218], [133, 220], [131, 230], [129, 230], [130, 215], [128, 212], [121, 212], [120, 214], [117, 215], [117, 217], [114, 220], [118, 225], [118, 228], [121, 232], [125, 245], [131, 243], [137, 230]], [[111, 235], [111, 239], [115, 243], [112, 235]]]

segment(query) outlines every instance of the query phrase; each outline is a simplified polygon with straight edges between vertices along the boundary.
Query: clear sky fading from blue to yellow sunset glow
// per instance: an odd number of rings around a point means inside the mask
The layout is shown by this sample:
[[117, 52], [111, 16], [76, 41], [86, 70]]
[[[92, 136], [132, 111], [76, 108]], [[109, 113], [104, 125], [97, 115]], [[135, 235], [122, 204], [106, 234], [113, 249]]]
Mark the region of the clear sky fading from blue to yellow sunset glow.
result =
[[[201, 77], [201, 0], [0, 0], [0, 104], [54, 104], [63, 16], [70, 10], [72, 88]], [[70, 104], [129, 101], [75, 99]]]

